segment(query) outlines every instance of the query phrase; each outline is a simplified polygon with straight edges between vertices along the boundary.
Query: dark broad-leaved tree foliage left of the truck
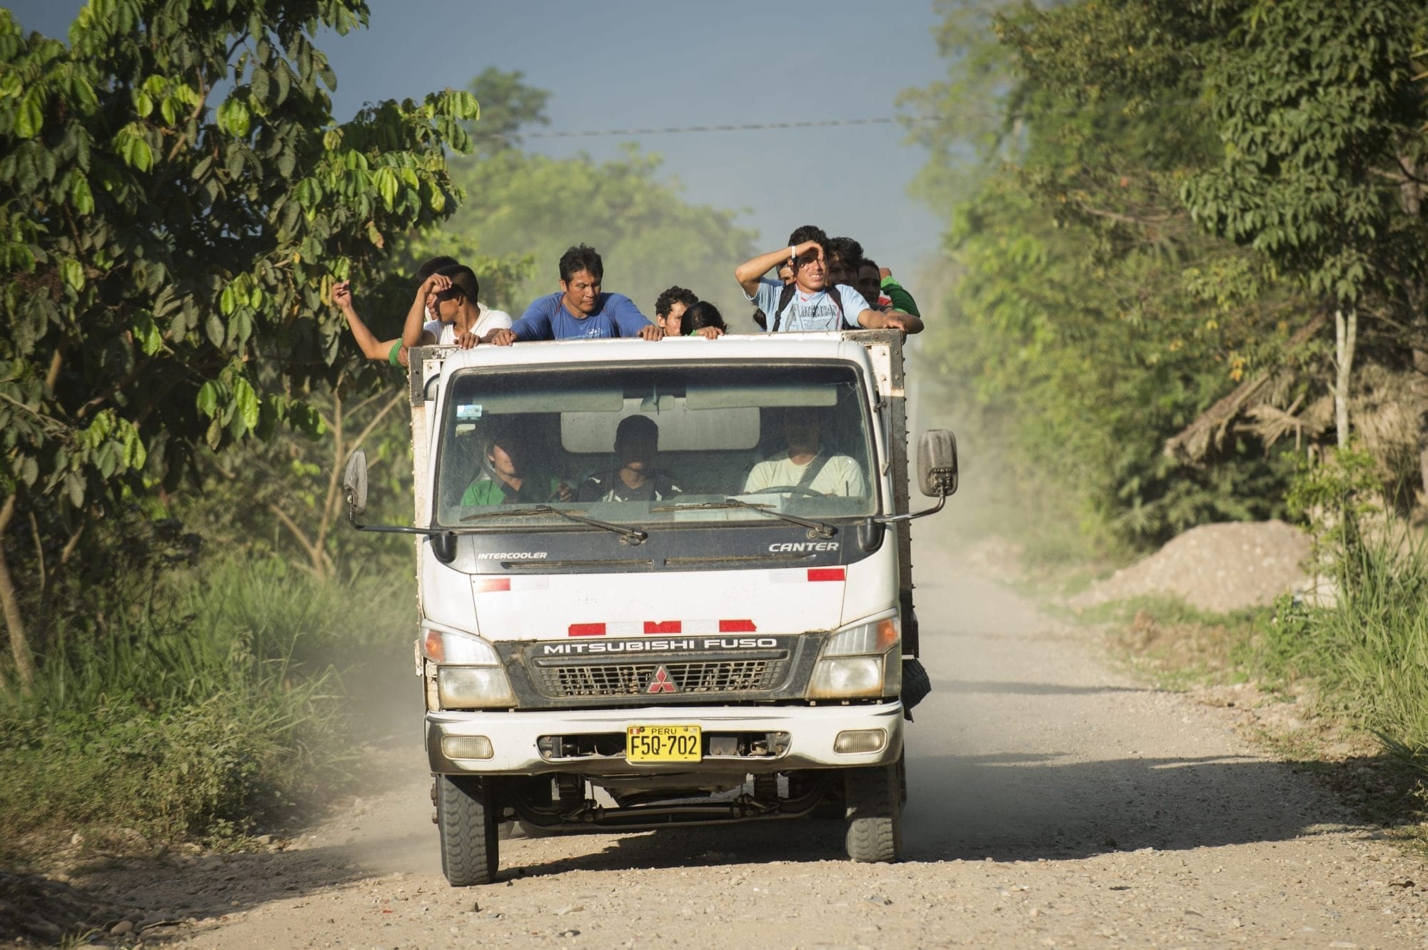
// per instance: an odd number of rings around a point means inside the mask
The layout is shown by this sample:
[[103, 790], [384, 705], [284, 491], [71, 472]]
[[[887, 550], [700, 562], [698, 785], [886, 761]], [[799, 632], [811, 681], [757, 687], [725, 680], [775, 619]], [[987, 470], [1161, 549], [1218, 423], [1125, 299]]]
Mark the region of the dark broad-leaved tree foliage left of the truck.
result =
[[313, 37], [366, 21], [361, 0], [91, 0], [64, 44], [0, 10], [0, 605], [21, 682], [19, 549], [43, 593], [47, 549], [200, 446], [320, 431], [331, 282], [376, 284], [390, 237], [454, 210], [468, 93], [331, 116]]

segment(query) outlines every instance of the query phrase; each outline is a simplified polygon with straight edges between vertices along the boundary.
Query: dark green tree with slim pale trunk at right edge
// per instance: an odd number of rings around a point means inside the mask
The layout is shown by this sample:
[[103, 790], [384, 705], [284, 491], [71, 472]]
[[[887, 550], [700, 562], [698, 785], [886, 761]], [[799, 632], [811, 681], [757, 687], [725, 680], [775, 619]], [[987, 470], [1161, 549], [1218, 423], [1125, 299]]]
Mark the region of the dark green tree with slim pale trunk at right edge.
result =
[[[1428, 11], [1407, 0], [1295, 0], [1227, 11], [1217, 26], [1201, 81], [1224, 160], [1187, 181], [1185, 204], [1334, 307], [1344, 448], [1361, 310], [1412, 327], [1407, 344], [1428, 372], [1428, 108], [1412, 64]], [[1428, 435], [1422, 397], [1417, 414]], [[1419, 454], [1428, 492], [1428, 441]]]

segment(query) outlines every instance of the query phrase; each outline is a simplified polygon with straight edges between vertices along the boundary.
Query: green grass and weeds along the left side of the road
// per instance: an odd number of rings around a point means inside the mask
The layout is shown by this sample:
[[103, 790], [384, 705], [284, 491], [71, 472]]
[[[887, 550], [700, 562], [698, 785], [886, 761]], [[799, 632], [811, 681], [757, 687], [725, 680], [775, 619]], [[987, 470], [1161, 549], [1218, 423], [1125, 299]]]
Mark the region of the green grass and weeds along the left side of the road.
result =
[[54, 630], [33, 695], [0, 700], [0, 863], [71, 836], [241, 847], [343, 780], [341, 672], [386, 655], [380, 632], [410, 626], [411, 605], [276, 561], [161, 583], [103, 635]]

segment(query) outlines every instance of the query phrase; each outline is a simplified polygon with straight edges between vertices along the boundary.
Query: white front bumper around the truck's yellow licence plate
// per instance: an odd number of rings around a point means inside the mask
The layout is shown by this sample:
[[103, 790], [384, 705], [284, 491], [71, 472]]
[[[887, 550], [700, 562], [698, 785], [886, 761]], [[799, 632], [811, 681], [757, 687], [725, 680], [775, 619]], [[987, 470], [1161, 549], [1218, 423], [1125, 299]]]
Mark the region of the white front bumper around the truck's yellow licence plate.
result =
[[[767, 756], [705, 755], [700, 762], [630, 765], [620, 755], [550, 757], [541, 755], [543, 736], [624, 735], [625, 726], [695, 725], [714, 733], [787, 733], [787, 747]], [[883, 729], [887, 742], [877, 752], [838, 753], [838, 733]], [[488, 759], [451, 759], [447, 736], [486, 736]], [[860, 706], [647, 706], [643, 709], [561, 709], [511, 712], [427, 712], [427, 757], [437, 775], [541, 775], [567, 772], [588, 776], [638, 775], [767, 775], [793, 769], [834, 769], [897, 762], [902, 755], [902, 703]]]

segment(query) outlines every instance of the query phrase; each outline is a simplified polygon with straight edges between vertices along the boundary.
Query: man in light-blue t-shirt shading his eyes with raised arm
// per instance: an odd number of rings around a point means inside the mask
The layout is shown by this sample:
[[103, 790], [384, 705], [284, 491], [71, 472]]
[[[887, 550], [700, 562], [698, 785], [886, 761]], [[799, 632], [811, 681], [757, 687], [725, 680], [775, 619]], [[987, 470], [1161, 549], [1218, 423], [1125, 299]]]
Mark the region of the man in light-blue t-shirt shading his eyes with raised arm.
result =
[[[911, 314], [884, 314], [873, 310], [854, 288], [844, 284], [830, 287], [824, 260], [827, 242], [823, 228], [805, 224], [788, 237], [787, 248], [760, 254], [734, 268], [734, 280], [744, 288], [744, 297], [767, 314], [770, 332], [860, 328], [922, 332], [922, 321]], [[794, 288], [787, 300], [783, 281], [764, 278], [781, 264], [791, 264], [794, 272]], [[830, 292], [838, 294], [838, 300], [834, 301]]]

